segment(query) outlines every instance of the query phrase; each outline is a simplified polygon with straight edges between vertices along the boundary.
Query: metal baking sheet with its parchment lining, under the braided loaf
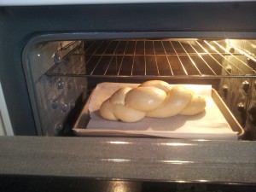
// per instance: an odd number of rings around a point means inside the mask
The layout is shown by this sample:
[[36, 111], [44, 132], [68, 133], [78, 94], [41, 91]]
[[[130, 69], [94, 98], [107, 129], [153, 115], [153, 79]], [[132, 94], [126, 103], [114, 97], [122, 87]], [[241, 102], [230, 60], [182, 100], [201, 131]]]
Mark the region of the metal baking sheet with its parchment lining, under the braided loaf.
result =
[[[100, 84], [99, 87], [101, 87], [101, 85], [102, 84]], [[127, 84], [103, 83], [103, 87], [105, 88], [106, 86], [107, 88], [109, 88], [108, 86], [110, 86], [109, 89], [106, 89], [107, 91], [109, 91], [109, 93], [106, 93], [106, 90], [102, 90], [104, 92], [104, 96], [105, 95], [107, 97], [110, 96], [112, 94], [111, 91], [113, 92], [113, 90], [111, 90], [111, 86], [116, 86], [116, 85], [127, 86]], [[137, 84], [130, 84], [130, 85], [137, 86]], [[195, 85], [195, 86], [201, 87], [202, 85]], [[96, 87], [96, 90], [97, 88], [98, 87]], [[204, 87], [201, 87], [201, 89], [204, 89]], [[236, 139], [237, 140], [243, 134], [243, 129], [241, 128], [241, 125], [239, 125], [239, 123], [236, 121], [232, 113], [230, 113], [230, 110], [226, 107], [226, 105], [224, 104], [220, 96], [218, 96], [217, 91], [211, 88], [210, 92], [211, 92], [210, 93], [211, 100], [214, 102], [213, 104], [214, 105], [216, 104], [216, 108], [219, 109], [218, 113], [221, 113], [221, 114], [218, 114], [220, 116], [215, 116], [215, 118], [213, 119], [214, 121], [212, 121], [212, 125], [209, 125], [208, 123], [209, 113], [210, 113], [210, 118], [212, 116], [211, 113], [213, 113], [212, 111], [209, 111], [210, 110], [209, 108], [206, 108], [208, 119], [206, 118], [201, 119], [201, 117], [204, 116], [203, 113], [193, 116], [191, 122], [189, 122], [189, 120], [191, 120], [191, 117], [183, 117], [182, 115], [177, 115], [169, 119], [153, 119], [154, 121], [153, 126], [156, 126], [157, 129], [150, 129], [150, 127], [148, 127], [149, 129], [146, 129], [146, 130], [143, 129], [145, 125], [148, 126], [147, 124], [148, 121], [150, 125], [152, 124], [153, 121], [150, 121], [151, 120], [150, 118], [146, 118], [145, 120], [143, 119], [143, 121], [139, 123], [130, 123], [130, 124], [123, 123], [123, 122], [116, 122], [116, 121], [108, 121], [100, 117], [97, 117], [98, 114], [96, 113], [89, 113], [89, 108], [90, 110], [92, 110], [90, 106], [91, 103], [95, 101], [98, 102], [98, 100], [101, 103], [102, 102], [101, 100], [104, 100], [104, 98], [97, 100], [95, 96], [98, 96], [98, 95], [95, 94], [95, 92], [93, 92], [90, 96], [90, 100], [88, 100], [88, 102], [85, 104], [84, 110], [79, 115], [79, 119], [74, 125], [73, 131], [77, 136], [92, 136], [92, 135], [93, 136], [131, 136], [131, 137], [143, 136], [143, 137], [173, 137], [173, 138], [211, 139], [211, 140], [212, 139], [226, 139], [226, 140]], [[97, 106], [99, 106], [100, 103], [97, 103]], [[214, 111], [214, 113], [216, 113], [216, 111]], [[220, 120], [222, 115], [224, 116], [224, 119]], [[90, 119], [91, 117], [92, 119]], [[189, 122], [188, 125], [183, 125], [184, 118], [186, 121]], [[205, 120], [206, 123], [203, 123], [203, 120]], [[220, 123], [222, 124], [226, 123], [229, 126], [227, 127], [227, 130], [222, 129], [223, 127]], [[172, 127], [173, 125], [177, 124], [178, 129], [166, 131], [164, 127], [166, 127], [166, 125], [171, 125], [171, 124], [172, 124]], [[206, 127], [204, 127], [204, 125]], [[185, 126], [189, 126], [189, 128]], [[194, 128], [195, 132], [190, 131], [190, 126], [191, 126], [191, 129]], [[205, 131], [205, 130], [212, 129], [212, 127], [214, 131], [210, 131], [209, 133]], [[230, 130], [228, 130], [229, 128]], [[188, 131], [186, 129], [188, 129]]]

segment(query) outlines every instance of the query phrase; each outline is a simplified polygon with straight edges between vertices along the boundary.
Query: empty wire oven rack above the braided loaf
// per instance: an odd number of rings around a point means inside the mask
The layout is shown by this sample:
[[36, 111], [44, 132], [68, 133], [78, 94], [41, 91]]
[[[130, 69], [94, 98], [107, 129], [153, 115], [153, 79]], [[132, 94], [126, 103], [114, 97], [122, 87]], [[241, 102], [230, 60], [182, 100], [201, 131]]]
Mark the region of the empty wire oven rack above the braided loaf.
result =
[[[229, 47], [227, 49], [227, 47]], [[97, 40], [70, 54], [49, 76], [152, 79], [255, 77], [256, 59], [247, 51], [210, 40]]]

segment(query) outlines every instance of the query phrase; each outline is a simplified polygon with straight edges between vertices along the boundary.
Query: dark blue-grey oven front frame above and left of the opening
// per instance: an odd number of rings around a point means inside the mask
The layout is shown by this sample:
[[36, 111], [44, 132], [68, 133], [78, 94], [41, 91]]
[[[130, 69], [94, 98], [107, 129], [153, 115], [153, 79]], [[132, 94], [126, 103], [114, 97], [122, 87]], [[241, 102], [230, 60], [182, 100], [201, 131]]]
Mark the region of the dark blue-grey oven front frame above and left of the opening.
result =
[[119, 37], [116, 32], [142, 32], [145, 38], [256, 38], [255, 9], [256, 3], [1, 7], [0, 78], [15, 135], [38, 135], [21, 62], [32, 38], [83, 37], [73, 32], [114, 32], [113, 38]]

